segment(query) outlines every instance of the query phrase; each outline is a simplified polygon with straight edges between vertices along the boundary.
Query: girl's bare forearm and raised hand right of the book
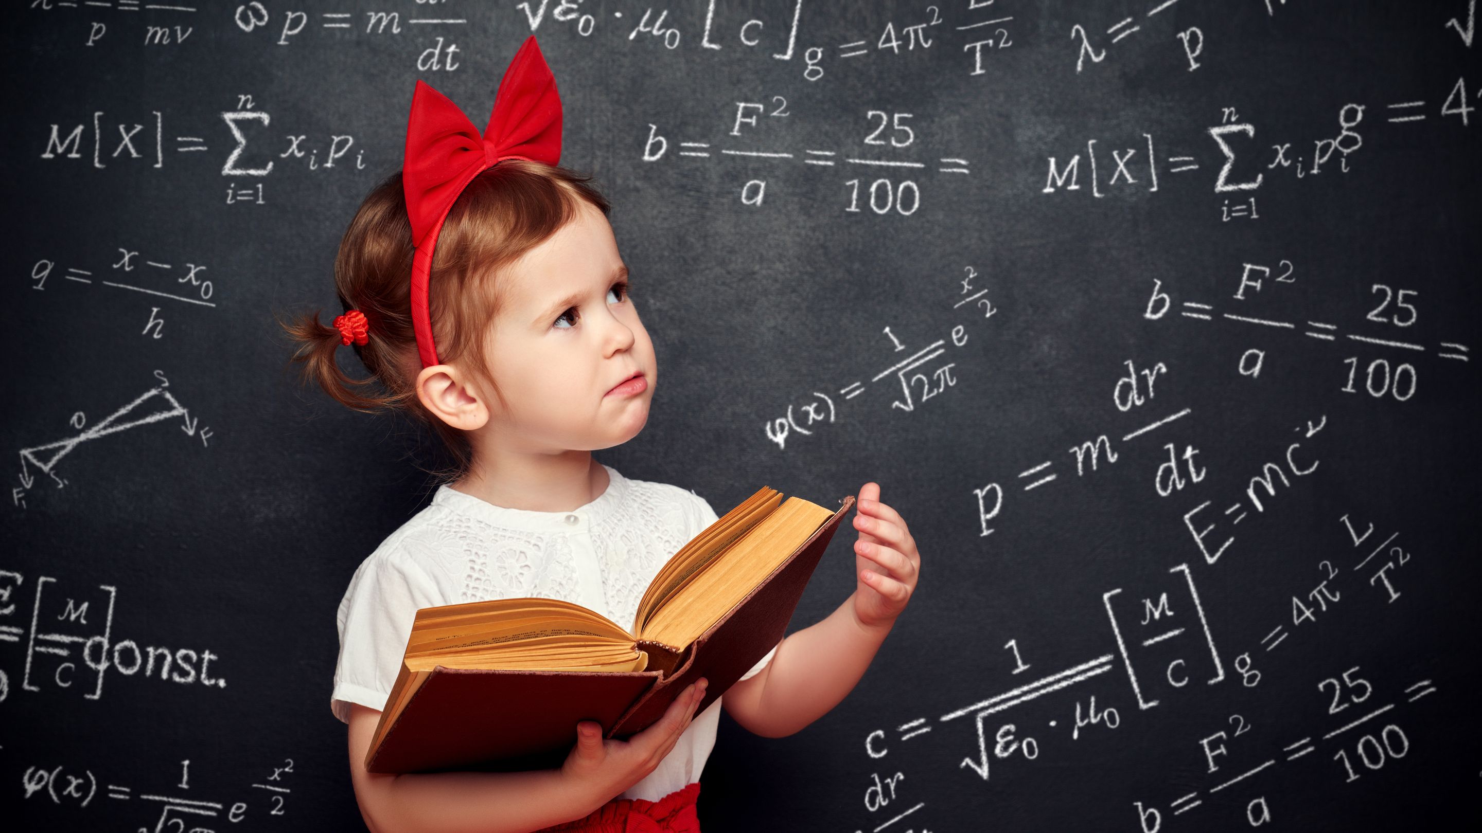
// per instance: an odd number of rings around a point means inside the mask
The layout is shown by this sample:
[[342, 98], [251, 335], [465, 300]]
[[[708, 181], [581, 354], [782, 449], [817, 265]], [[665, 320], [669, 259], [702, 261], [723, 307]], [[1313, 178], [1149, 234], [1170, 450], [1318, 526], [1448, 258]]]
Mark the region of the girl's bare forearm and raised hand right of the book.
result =
[[760, 673], [722, 698], [753, 734], [780, 738], [827, 714], [854, 691], [910, 602], [920, 554], [906, 520], [880, 502], [877, 483], [865, 483], [855, 505], [854, 593], [824, 621], [784, 639]]

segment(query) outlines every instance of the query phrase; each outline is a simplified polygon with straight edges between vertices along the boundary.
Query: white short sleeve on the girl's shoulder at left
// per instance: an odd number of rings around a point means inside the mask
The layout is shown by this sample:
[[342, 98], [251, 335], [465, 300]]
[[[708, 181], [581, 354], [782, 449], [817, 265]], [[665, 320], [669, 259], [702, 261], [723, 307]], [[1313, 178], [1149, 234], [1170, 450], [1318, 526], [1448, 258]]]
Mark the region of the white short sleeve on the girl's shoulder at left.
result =
[[350, 704], [384, 710], [396, 683], [412, 621], [440, 605], [437, 585], [412, 562], [372, 556], [356, 571], [339, 602], [339, 660], [329, 707], [348, 723]]

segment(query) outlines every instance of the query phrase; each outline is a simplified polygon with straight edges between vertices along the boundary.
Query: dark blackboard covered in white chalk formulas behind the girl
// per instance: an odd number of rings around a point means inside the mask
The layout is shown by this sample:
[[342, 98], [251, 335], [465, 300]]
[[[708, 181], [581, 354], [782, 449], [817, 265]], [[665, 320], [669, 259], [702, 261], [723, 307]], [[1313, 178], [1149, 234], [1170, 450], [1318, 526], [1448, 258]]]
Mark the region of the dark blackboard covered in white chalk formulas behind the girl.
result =
[[874, 480], [922, 553], [837, 708], [723, 717], [705, 830], [1476, 829], [1475, 0], [10, 21], [7, 830], [362, 827], [333, 614], [434, 445], [273, 313], [339, 311], [415, 79], [482, 126], [532, 33], [662, 369], [596, 457], [722, 511]]

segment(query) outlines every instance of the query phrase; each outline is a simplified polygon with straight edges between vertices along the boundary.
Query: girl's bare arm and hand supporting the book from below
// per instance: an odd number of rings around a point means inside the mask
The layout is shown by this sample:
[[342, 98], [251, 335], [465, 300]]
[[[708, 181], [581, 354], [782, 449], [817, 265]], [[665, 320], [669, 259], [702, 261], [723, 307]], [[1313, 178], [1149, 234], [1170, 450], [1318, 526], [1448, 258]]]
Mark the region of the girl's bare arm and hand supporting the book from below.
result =
[[658, 768], [689, 728], [704, 694], [704, 685], [689, 686], [664, 717], [627, 741], [603, 740], [600, 726], [584, 720], [562, 768], [528, 772], [366, 772], [365, 756], [381, 713], [351, 704], [356, 802], [370, 833], [528, 833], [582, 818]]

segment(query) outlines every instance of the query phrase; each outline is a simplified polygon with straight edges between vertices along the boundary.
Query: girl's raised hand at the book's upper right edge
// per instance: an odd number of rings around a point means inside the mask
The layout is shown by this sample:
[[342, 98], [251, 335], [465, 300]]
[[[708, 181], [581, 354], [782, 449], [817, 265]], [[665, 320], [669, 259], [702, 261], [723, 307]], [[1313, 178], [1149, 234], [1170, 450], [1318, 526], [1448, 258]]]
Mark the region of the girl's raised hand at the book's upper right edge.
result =
[[898, 511], [880, 502], [880, 485], [865, 483], [855, 502], [854, 615], [865, 627], [889, 627], [906, 609], [922, 557]]

